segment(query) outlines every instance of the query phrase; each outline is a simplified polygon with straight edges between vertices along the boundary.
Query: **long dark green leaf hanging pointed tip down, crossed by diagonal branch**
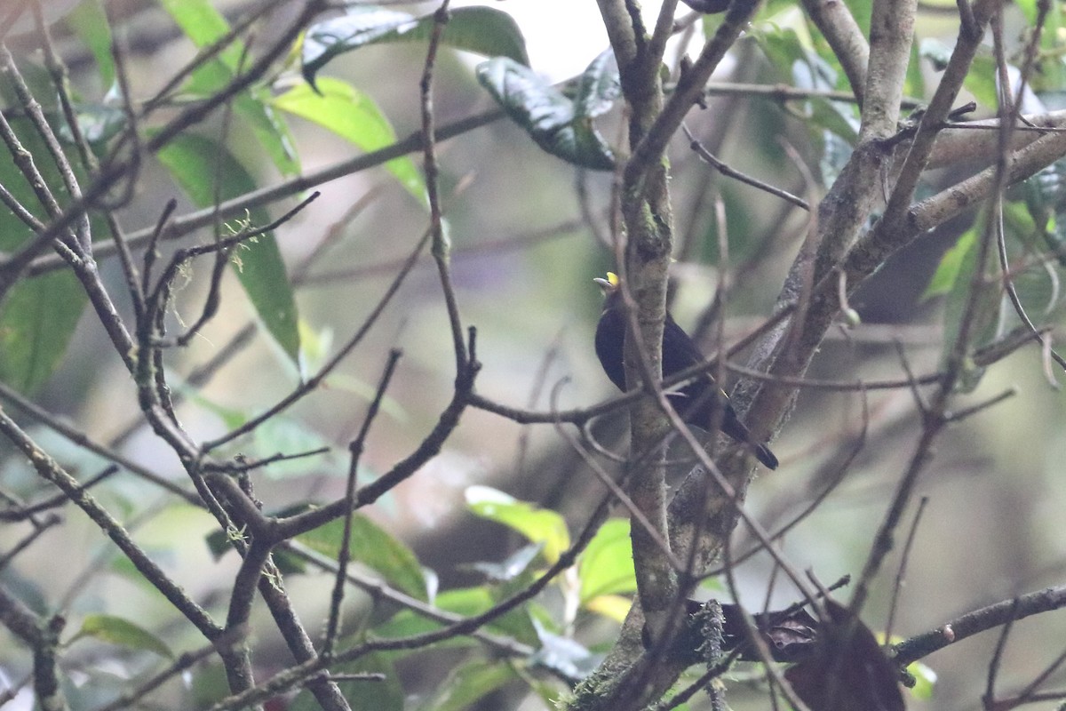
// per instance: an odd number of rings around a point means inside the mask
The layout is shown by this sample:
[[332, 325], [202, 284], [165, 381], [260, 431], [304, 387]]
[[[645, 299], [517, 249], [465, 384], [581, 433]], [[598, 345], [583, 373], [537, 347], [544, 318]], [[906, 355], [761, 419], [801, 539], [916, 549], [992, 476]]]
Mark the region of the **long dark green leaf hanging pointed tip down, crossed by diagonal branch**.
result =
[[[225, 200], [243, 195], [256, 187], [248, 172], [228, 150], [204, 136], [177, 135], [157, 156], [199, 207], [214, 205], [216, 198]], [[254, 225], [270, 223], [270, 215], [263, 208], [253, 209], [248, 216]], [[244, 242], [231, 254], [231, 262], [266, 329], [293, 362], [298, 363], [296, 302], [274, 233], [266, 232]]]

